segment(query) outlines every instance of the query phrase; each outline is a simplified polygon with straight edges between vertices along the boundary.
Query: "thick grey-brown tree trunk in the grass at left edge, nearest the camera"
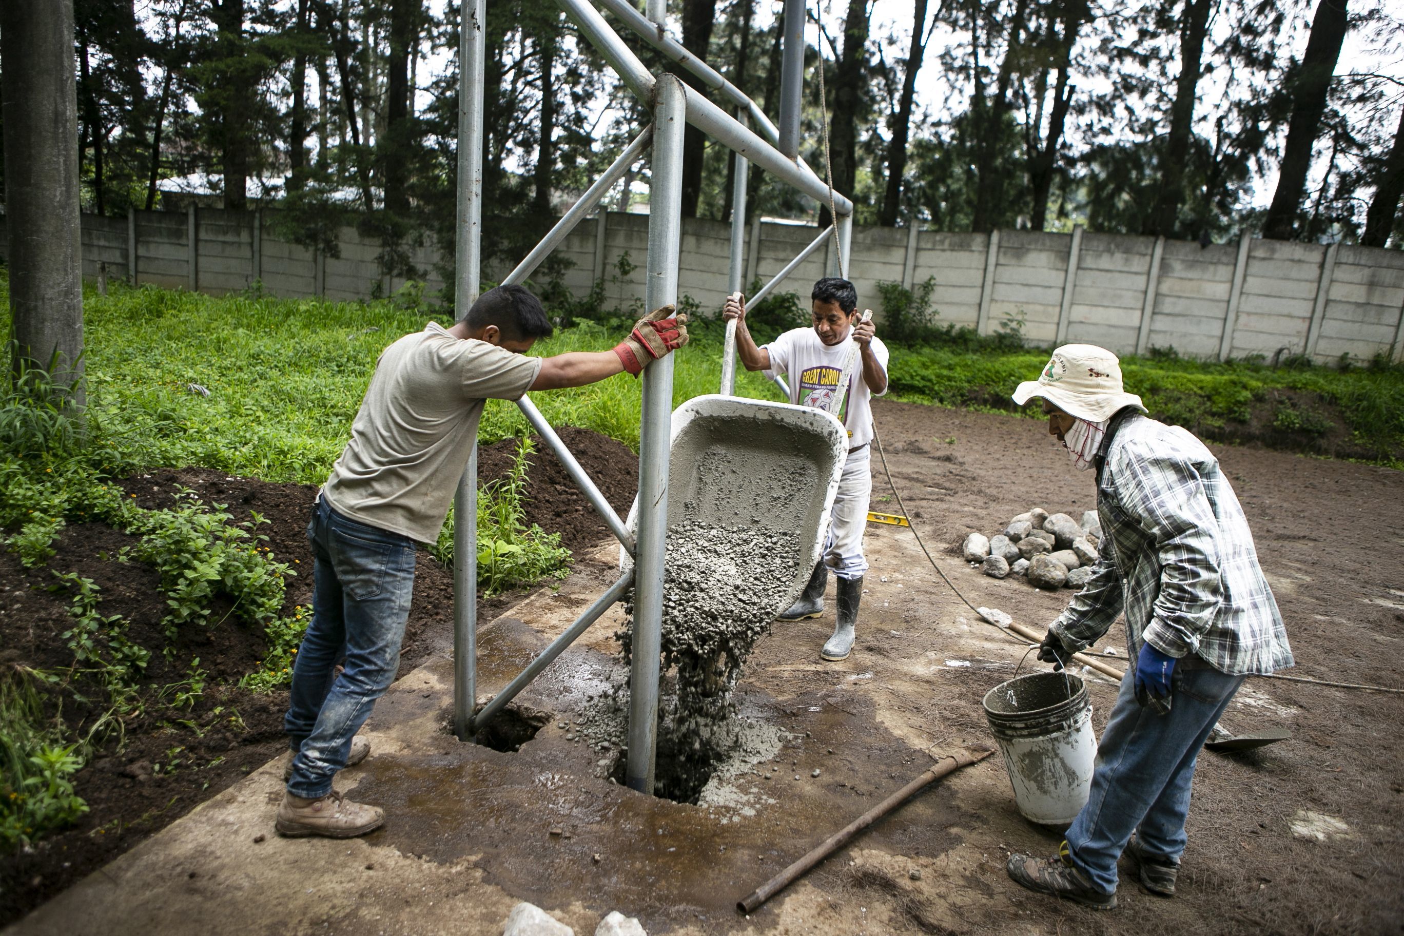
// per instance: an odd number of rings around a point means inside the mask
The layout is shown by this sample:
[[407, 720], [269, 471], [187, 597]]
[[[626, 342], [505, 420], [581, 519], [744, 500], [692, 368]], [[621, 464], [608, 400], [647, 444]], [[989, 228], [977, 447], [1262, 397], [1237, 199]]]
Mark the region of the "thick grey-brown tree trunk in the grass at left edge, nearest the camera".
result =
[[83, 406], [73, 0], [0, 3], [11, 366], [39, 365]]

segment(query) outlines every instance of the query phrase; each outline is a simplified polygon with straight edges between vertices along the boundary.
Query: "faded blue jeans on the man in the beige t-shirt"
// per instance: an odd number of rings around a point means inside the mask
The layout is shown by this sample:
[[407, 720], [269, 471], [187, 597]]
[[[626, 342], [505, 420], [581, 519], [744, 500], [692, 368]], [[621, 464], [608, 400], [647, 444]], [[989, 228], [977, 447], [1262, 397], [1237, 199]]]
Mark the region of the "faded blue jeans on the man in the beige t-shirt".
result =
[[[395, 682], [414, 592], [414, 542], [348, 519], [322, 498], [307, 540], [312, 623], [292, 668], [284, 730], [296, 751], [288, 791], [316, 798], [331, 791], [351, 738]], [[333, 678], [343, 655], [344, 669]]]

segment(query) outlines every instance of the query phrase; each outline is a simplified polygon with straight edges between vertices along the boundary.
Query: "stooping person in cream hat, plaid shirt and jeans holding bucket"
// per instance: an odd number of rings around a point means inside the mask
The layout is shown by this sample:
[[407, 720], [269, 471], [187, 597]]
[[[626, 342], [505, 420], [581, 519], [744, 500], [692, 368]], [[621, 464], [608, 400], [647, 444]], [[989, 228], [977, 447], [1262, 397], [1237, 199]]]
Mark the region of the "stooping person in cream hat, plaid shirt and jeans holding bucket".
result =
[[1171, 897], [1199, 749], [1244, 676], [1293, 664], [1287, 634], [1219, 462], [1185, 429], [1144, 415], [1122, 390], [1116, 355], [1063, 345], [1014, 393], [1021, 406], [1032, 397], [1074, 466], [1095, 470], [1102, 525], [1092, 578], [1049, 627], [1039, 660], [1060, 668], [1125, 612], [1136, 665], [1067, 841], [1052, 859], [1011, 856], [1009, 877], [1111, 909], [1125, 850], [1146, 890]]

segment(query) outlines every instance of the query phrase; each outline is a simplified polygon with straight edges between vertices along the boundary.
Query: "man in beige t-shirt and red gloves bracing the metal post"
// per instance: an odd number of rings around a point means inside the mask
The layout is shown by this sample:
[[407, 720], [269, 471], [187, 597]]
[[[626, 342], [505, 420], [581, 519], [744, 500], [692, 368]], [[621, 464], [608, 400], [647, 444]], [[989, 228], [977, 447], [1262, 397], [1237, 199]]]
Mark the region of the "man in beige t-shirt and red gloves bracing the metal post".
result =
[[[279, 834], [351, 838], [385, 821], [379, 807], [343, 798], [331, 779], [369, 752], [355, 733], [399, 668], [416, 543], [438, 539], [483, 403], [578, 387], [622, 370], [637, 376], [687, 344], [685, 323], [664, 306], [612, 351], [528, 358], [532, 344], [550, 335], [550, 321], [526, 289], [498, 286], [452, 328], [431, 321], [380, 354], [351, 441], [307, 525], [312, 623], [284, 720], [293, 756]], [[344, 669], [336, 674], [343, 654]]]

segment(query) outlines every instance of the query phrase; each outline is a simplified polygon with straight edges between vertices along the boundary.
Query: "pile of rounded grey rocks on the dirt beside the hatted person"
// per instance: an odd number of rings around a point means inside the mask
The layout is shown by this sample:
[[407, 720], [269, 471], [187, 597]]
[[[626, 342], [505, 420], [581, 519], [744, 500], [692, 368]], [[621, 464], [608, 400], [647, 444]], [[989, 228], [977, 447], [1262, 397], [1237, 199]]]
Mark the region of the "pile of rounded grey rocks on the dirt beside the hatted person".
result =
[[1084, 512], [1078, 523], [1067, 514], [1050, 515], [1035, 507], [1009, 521], [1002, 533], [970, 533], [960, 554], [993, 578], [1025, 575], [1039, 588], [1081, 588], [1092, 577], [1101, 539], [1097, 511]]

